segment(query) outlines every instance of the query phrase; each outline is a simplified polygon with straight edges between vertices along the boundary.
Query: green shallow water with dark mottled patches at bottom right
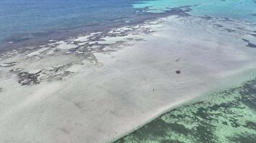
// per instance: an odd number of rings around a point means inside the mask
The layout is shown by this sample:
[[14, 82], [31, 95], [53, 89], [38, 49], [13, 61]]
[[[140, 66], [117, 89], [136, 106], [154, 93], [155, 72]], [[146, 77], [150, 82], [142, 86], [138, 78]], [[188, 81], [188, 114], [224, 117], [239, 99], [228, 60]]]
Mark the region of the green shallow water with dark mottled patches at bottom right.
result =
[[256, 140], [256, 79], [171, 110], [114, 143]]

